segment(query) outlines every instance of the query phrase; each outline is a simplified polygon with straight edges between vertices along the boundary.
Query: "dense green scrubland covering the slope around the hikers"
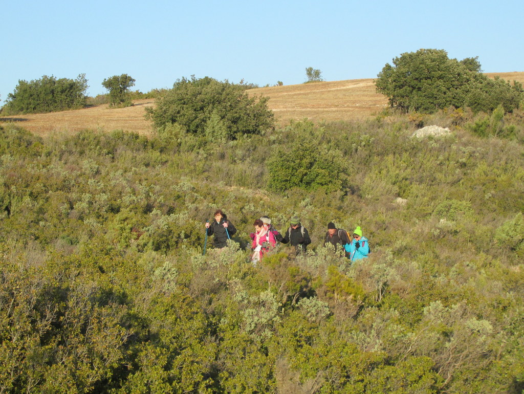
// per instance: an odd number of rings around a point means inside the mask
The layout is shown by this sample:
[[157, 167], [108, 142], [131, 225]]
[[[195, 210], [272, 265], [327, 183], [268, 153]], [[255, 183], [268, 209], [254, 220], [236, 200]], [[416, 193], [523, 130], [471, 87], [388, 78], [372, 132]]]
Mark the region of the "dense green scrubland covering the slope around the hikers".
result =
[[[520, 393], [522, 117], [386, 111], [220, 143], [2, 126], [0, 392]], [[432, 124], [452, 133], [411, 137]], [[216, 209], [238, 233], [203, 256]], [[307, 255], [249, 264], [253, 221], [295, 214]], [[372, 255], [323, 248], [330, 221]]]

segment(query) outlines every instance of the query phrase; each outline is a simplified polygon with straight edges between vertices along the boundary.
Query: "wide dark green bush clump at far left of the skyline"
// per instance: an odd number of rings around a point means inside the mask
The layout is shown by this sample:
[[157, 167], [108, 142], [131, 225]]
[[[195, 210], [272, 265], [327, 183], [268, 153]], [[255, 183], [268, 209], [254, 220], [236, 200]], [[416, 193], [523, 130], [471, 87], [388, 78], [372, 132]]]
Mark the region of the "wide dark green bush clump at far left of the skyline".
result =
[[75, 80], [57, 79], [53, 75], [43, 75], [30, 82], [20, 80], [15, 91], [7, 95], [2, 112], [5, 115], [34, 114], [82, 108], [88, 87], [85, 74]]

